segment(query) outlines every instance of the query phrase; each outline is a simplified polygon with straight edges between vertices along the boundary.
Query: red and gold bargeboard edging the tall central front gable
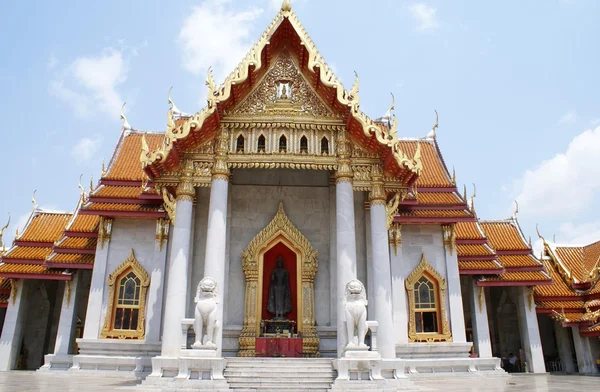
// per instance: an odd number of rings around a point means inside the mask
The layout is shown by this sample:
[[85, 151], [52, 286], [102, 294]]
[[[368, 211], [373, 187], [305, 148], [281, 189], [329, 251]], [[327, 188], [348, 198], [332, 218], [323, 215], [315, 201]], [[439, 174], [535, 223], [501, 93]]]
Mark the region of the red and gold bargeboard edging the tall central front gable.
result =
[[359, 109], [358, 77], [352, 89], [344, 88], [291, 6], [286, 4], [222, 85], [215, 84], [209, 71], [206, 107], [184, 119], [176, 119], [171, 109], [167, 131], [159, 145], [152, 147], [148, 143], [142, 149], [140, 160], [150, 179], [173, 171], [179, 166], [184, 151], [211, 139], [219, 129], [224, 113], [249, 95], [283, 51], [292, 55], [305, 80], [339, 117], [350, 138], [381, 157], [385, 175], [401, 178], [406, 185], [416, 181], [423, 168], [420, 150], [416, 149], [411, 155], [402, 149], [395, 117], [390, 115], [389, 125], [384, 125], [371, 120]]

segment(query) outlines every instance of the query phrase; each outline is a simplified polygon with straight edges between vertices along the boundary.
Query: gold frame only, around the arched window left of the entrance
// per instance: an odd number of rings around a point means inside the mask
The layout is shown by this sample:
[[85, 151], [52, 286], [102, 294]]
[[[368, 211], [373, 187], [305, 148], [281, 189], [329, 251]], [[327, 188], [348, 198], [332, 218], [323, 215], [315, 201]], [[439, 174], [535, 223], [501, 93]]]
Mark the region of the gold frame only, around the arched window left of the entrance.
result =
[[[115, 302], [117, 301], [117, 291], [115, 289], [115, 283], [117, 279], [122, 276], [125, 272], [131, 270], [141, 281], [140, 291], [140, 306], [138, 313], [138, 325], [136, 330], [114, 330], [113, 320], [114, 312], [116, 310]], [[115, 271], [108, 277], [108, 309], [106, 316], [104, 317], [104, 325], [100, 332], [100, 337], [105, 339], [145, 339], [146, 337], [146, 291], [150, 286], [150, 276], [137, 261], [133, 253], [133, 249], [129, 253], [129, 256], [125, 261], [115, 269]]]

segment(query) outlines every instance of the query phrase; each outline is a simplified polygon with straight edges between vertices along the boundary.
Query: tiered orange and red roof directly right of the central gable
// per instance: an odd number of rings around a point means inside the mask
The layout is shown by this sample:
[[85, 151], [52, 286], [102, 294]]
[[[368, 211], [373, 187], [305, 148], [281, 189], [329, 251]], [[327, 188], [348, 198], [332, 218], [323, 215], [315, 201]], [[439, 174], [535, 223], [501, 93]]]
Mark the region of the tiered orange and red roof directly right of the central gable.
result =
[[400, 202], [394, 222], [401, 224], [440, 224], [475, 222], [477, 218], [470, 210], [466, 196], [456, 188], [454, 174], [450, 174], [435, 136], [421, 139], [402, 139], [402, 151], [408, 155], [419, 151], [423, 170], [413, 188]]

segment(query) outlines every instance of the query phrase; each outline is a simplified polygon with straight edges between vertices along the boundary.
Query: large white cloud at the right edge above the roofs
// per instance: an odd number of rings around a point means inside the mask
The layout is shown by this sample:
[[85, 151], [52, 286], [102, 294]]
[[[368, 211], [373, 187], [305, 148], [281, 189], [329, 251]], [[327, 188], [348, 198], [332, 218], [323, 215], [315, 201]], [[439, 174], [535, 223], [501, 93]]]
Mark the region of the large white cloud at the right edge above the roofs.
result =
[[577, 135], [565, 153], [527, 170], [516, 182], [521, 211], [531, 216], [570, 216], [585, 210], [600, 191], [600, 127]]

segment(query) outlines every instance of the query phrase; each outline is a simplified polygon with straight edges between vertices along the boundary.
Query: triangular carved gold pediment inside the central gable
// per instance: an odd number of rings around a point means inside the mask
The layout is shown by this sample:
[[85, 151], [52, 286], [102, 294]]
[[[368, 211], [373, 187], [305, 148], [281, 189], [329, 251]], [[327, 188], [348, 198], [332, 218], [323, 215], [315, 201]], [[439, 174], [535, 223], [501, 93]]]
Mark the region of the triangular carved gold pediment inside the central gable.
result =
[[225, 115], [337, 117], [310, 87], [288, 52], [280, 53], [258, 86]]

